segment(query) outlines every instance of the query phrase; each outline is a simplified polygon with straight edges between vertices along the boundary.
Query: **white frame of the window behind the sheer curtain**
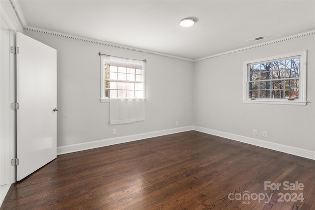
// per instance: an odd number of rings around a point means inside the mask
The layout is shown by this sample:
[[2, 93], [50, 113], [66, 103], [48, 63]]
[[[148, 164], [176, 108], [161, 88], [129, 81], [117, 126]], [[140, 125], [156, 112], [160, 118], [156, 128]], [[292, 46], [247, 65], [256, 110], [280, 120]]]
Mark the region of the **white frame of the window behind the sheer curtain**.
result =
[[[101, 59], [101, 67], [100, 67], [100, 72], [101, 72], [101, 81], [100, 81], [100, 84], [101, 84], [101, 91], [100, 91], [100, 102], [109, 102], [110, 100], [121, 100], [121, 99], [128, 99], [128, 98], [108, 98], [105, 96], [105, 71], [103, 69], [104, 67], [104, 62], [108, 62], [110, 63], [110, 57], [108, 55], [100, 55], [100, 59]], [[142, 69], [143, 70], [143, 98], [130, 98], [130, 99], [143, 99], [145, 100], [145, 70], [144, 68]], [[127, 80], [126, 80], [127, 81]]]

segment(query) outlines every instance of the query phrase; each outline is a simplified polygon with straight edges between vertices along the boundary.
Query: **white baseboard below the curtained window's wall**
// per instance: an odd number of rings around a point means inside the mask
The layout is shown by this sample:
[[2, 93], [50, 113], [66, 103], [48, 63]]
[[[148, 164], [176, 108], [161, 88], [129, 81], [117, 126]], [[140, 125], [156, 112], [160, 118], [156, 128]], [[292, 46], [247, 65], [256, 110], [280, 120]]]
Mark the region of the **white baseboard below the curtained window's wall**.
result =
[[146, 139], [146, 138], [153, 138], [157, 136], [168, 135], [168, 134], [173, 134], [173, 133], [178, 133], [178, 132], [191, 131], [191, 130], [193, 130], [193, 127], [187, 126], [187, 127], [176, 128], [176, 129], [146, 132], [146, 133], [141, 133], [141, 134], [117, 137], [117, 138], [91, 141], [91, 142], [86, 142], [86, 143], [81, 143], [81, 144], [61, 146], [61, 147], [57, 147], [57, 155], [73, 153], [73, 152], [78, 152], [78, 151], [83, 151], [83, 150], [89, 150], [89, 149], [94, 149], [94, 148], [104, 147], [104, 146], [109, 146], [109, 145], [114, 145], [114, 144], [121, 144], [121, 143], [130, 142], [130, 141], [137, 141], [137, 140]]

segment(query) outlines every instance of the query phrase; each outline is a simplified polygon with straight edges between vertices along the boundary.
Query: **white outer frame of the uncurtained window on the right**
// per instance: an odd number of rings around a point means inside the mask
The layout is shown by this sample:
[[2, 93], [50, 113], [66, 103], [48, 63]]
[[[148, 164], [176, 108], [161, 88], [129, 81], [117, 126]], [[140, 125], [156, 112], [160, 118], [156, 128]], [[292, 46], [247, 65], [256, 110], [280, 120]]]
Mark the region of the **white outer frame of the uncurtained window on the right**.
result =
[[[300, 77], [299, 77], [299, 98], [294, 100], [288, 99], [251, 99], [249, 98], [249, 71], [250, 65], [264, 63], [276, 60], [284, 60], [289, 57], [300, 57]], [[259, 58], [244, 61], [243, 72], [243, 103], [250, 104], [278, 104], [278, 105], [306, 105], [306, 68], [307, 68], [307, 51], [287, 53], [271, 57]]]

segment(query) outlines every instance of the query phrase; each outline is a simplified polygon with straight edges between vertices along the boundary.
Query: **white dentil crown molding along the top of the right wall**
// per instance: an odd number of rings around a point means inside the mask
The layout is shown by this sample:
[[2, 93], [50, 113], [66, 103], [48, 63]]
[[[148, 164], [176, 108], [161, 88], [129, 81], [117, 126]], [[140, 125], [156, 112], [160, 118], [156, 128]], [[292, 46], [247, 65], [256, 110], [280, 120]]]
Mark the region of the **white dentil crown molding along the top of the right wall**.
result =
[[274, 40], [271, 40], [271, 41], [262, 42], [260, 44], [251, 45], [251, 46], [248, 46], [248, 47], [239, 48], [239, 49], [232, 50], [232, 51], [227, 51], [227, 52], [223, 52], [223, 53], [210, 55], [210, 56], [207, 56], [207, 57], [195, 59], [193, 61], [195, 62], [195, 61], [199, 61], [199, 60], [206, 60], [206, 59], [210, 59], [210, 58], [219, 57], [219, 56], [222, 56], [222, 55], [238, 53], [238, 52], [241, 52], [241, 51], [251, 50], [253, 48], [258, 48], [258, 47], [262, 47], [262, 46], [266, 46], [266, 45], [271, 45], [271, 44], [275, 44], [275, 43], [279, 43], [279, 42], [284, 42], [284, 41], [287, 41], [287, 40], [296, 39], [296, 38], [300, 38], [300, 37], [304, 37], [304, 36], [308, 36], [308, 35], [312, 35], [312, 34], [315, 34], [315, 30], [309, 30], [309, 31], [305, 31], [305, 32], [302, 32], [302, 33], [297, 33], [297, 34], [294, 34], [294, 35], [285, 36], [285, 37], [282, 37], [282, 38], [279, 38], [279, 39], [274, 39]]

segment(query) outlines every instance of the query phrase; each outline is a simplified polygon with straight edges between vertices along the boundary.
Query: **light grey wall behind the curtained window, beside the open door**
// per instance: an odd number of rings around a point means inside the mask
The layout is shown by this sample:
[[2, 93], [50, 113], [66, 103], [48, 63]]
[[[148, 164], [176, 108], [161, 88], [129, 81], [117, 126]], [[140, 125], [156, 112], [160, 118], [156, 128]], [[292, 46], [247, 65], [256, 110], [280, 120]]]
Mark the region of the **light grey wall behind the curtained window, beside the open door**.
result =
[[[30, 30], [25, 34], [57, 49], [58, 147], [192, 125], [193, 62]], [[148, 60], [145, 121], [109, 125], [109, 103], [99, 101], [98, 52]]]

